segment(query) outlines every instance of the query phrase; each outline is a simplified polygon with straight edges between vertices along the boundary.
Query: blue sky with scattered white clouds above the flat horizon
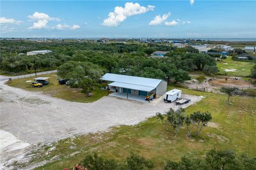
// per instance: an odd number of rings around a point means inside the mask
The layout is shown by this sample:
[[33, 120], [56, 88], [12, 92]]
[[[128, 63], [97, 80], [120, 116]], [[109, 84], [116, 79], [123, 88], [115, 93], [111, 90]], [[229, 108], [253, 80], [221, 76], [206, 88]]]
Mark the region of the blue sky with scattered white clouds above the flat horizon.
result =
[[256, 38], [256, 1], [1, 1], [0, 21], [1, 37]]

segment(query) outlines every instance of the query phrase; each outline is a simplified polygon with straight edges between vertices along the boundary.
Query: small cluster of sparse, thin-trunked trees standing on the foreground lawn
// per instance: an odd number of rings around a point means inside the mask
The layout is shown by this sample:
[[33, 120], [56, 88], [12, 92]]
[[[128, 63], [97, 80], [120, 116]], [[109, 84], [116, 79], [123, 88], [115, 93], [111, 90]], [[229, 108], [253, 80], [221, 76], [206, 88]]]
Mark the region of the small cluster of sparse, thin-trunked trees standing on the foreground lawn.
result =
[[[186, 115], [185, 109], [179, 108], [174, 111], [172, 108], [166, 112], [165, 115], [157, 112], [156, 117], [165, 124], [166, 130], [174, 133], [174, 139], [176, 139], [180, 128], [186, 125], [188, 131], [188, 137], [191, 137], [191, 132], [196, 127], [195, 135], [198, 135], [202, 128], [212, 120], [211, 113], [209, 112], [194, 112], [190, 115]], [[169, 126], [171, 127], [169, 129]]]

